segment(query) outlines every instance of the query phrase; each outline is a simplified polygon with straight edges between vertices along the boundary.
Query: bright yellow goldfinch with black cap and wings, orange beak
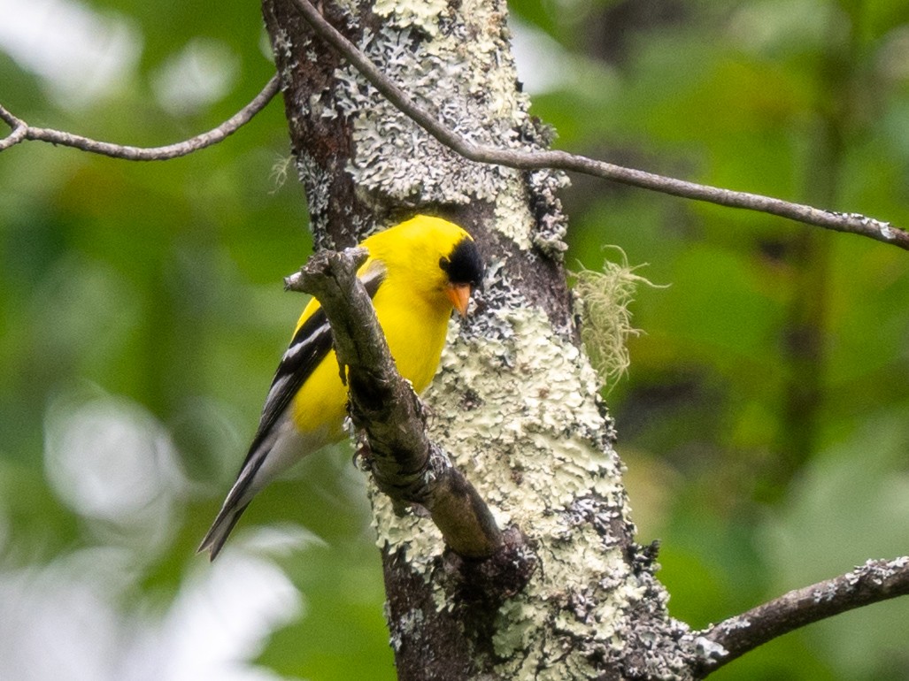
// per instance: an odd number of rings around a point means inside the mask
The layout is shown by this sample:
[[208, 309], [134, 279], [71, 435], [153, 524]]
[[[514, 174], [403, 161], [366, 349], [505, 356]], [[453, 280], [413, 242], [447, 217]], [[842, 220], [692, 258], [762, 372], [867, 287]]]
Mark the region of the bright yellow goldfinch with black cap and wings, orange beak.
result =
[[[438, 367], [452, 309], [464, 315], [483, 278], [480, 253], [456, 224], [426, 215], [360, 245], [369, 257], [357, 276], [372, 297], [397, 370], [421, 392]], [[249, 453], [200, 552], [207, 549], [214, 560], [260, 489], [295, 461], [344, 439], [346, 403], [328, 321], [314, 298], [278, 364]]]

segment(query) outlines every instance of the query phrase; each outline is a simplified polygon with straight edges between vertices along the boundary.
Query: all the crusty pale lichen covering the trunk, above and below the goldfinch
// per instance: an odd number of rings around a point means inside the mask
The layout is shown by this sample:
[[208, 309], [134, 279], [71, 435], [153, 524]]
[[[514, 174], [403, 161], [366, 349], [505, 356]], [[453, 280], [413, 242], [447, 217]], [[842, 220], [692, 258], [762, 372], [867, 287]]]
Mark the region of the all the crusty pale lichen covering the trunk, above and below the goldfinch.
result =
[[[499, 11], [504, 3], [380, 0], [375, 6], [385, 21], [375, 33], [365, 31], [359, 44], [385, 74], [475, 142], [538, 148], [525, 134], [533, 126], [527, 100], [514, 86]], [[457, 21], [440, 21], [455, 11]], [[467, 162], [350, 66], [335, 76], [335, 89], [310, 106], [351, 123], [355, 150], [346, 169], [360, 198], [403, 205], [491, 202], [490, 227], [520, 249], [535, 247], [553, 258], [564, 251], [564, 219], [554, 197], [564, 179]], [[322, 181], [305, 160], [301, 173], [310, 183]], [[528, 205], [530, 198], [538, 203]], [[631, 528], [622, 464], [598, 402], [600, 380], [584, 352], [554, 331], [544, 311], [505, 280], [505, 271], [502, 262], [489, 264], [484, 312], [464, 329], [453, 325], [425, 396], [431, 437], [452, 454], [501, 526], [517, 525], [539, 540], [539, 568], [497, 617], [495, 654], [506, 660], [495, 669], [498, 676], [594, 677], [602, 669], [592, 659], [618, 655], [627, 613], [639, 607], [645, 590], [615, 537]], [[373, 503], [380, 548], [404, 552], [409, 568], [436, 585], [435, 607], [452, 607], [434, 580], [445, 550], [435, 525], [415, 514], [395, 515], [384, 495], [374, 493]], [[405, 613], [394, 630], [425, 617]]]

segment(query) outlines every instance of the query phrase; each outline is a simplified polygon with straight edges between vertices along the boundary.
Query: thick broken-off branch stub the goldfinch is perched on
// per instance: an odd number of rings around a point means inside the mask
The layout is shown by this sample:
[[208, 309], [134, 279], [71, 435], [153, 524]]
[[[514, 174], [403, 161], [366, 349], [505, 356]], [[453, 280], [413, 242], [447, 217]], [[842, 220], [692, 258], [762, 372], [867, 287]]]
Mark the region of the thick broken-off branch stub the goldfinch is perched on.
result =
[[473, 485], [445, 452], [426, 437], [420, 400], [401, 378], [357, 268], [365, 249], [316, 253], [285, 280], [286, 288], [312, 293], [322, 305], [345, 367], [350, 414], [365, 430], [376, 484], [395, 507], [429, 510], [445, 543], [464, 558], [489, 558], [503, 546], [502, 533]]

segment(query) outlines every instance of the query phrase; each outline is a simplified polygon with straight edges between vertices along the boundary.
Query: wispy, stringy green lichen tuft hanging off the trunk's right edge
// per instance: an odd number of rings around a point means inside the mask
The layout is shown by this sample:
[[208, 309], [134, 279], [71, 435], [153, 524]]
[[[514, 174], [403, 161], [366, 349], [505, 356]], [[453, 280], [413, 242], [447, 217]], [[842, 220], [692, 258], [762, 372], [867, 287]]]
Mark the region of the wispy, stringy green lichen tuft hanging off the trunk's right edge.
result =
[[634, 272], [622, 249], [616, 248], [621, 262], [605, 261], [603, 271], [574, 272], [574, 295], [580, 301], [581, 340], [603, 383], [610, 390], [631, 364], [628, 338], [641, 331], [632, 326], [629, 309], [641, 284], [653, 283]]

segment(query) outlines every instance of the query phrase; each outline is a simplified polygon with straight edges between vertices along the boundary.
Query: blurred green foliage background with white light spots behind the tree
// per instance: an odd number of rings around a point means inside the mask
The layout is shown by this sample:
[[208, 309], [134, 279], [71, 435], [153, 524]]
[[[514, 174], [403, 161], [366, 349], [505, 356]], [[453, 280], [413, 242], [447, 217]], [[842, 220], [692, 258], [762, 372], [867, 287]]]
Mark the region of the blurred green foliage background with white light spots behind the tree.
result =
[[[515, 0], [557, 146], [909, 225], [909, 5]], [[0, 103], [139, 145], [221, 123], [272, 73], [258, 5], [0, 0]], [[303, 304], [282, 107], [126, 163], [0, 154], [0, 678], [393, 679], [350, 451], [195, 556]], [[285, 178], [286, 175], [286, 178]], [[286, 179], [286, 182], [285, 182]], [[643, 287], [607, 400], [642, 543], [694, 627], [909, 548], [909, 256], [574, 177], [573, 268]], [[905, 679], [909, 602], [788, 635], [728, 679]]]

